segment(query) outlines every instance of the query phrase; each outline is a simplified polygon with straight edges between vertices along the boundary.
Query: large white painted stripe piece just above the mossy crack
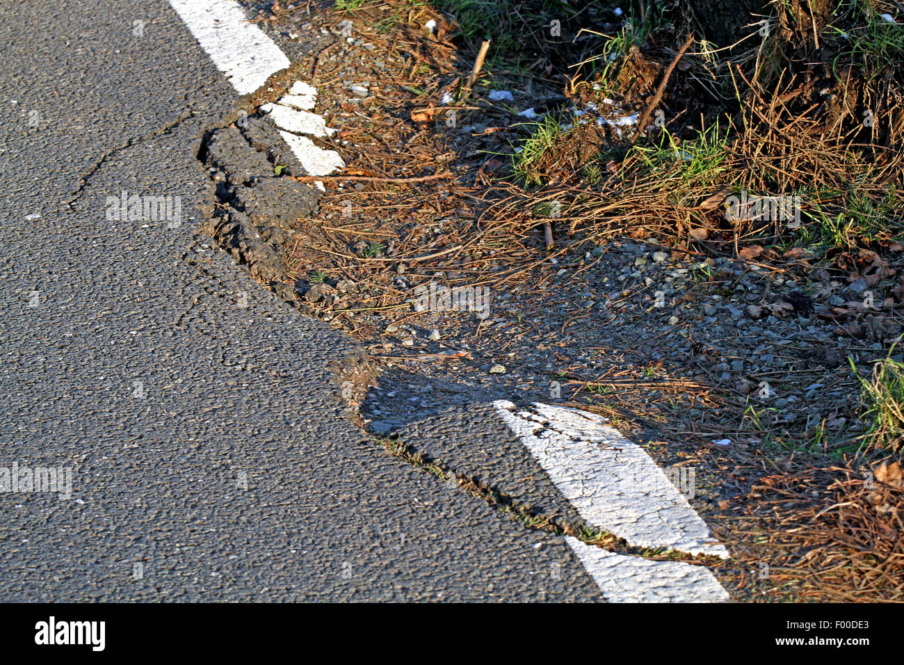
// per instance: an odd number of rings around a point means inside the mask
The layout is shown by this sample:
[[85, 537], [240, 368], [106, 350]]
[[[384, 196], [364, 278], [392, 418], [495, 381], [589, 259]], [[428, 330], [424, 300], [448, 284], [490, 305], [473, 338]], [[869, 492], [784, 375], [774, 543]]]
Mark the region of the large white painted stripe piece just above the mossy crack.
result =
[[549, 404], [534, 404], [535, 413], [515, 413], [505, 400], [493, 405], [589, 524], [632, 546], [729, 556], [644, 449], [603, 418]]

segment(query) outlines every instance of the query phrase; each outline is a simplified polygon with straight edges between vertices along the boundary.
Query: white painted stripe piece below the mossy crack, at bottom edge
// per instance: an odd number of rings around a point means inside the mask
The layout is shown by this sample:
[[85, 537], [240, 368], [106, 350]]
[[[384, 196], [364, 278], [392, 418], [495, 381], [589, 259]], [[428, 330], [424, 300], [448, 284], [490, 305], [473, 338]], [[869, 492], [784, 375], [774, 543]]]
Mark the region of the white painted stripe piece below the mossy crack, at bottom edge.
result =
[[570, 536], [565, 537], [565, 542], [609, 603], [724, 603], [730, 600], [719, 580], [702, 565], [620, 555]]

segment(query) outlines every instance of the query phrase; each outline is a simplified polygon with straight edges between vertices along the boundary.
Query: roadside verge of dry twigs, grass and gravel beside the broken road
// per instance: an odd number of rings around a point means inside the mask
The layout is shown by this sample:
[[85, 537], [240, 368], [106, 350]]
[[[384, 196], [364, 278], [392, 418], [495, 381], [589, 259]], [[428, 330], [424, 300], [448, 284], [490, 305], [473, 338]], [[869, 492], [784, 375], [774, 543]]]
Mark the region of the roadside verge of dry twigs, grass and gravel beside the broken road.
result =
[[299, 280], [357, 285], [312, 312], [377, 347], [438, 275], [516, 292], [499, 344], [573, 336], [562, 399], [720, 486], [736, 594], [904, 600], [901, 5], [330, 5], [374, 48], [315, 82], [379, 72], [334, 119], [380, 180], [297, 230]]

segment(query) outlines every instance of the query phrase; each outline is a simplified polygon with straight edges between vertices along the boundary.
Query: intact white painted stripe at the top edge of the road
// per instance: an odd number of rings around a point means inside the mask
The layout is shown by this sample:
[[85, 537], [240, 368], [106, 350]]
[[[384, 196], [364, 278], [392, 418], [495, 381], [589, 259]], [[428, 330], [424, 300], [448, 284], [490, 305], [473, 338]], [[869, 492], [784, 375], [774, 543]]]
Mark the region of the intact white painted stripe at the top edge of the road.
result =
[[289, 65], [263, 30], [248, 23], [231, 0], [169, 0], [217, 69], [240, 95], [258, 90], [276, 71]]

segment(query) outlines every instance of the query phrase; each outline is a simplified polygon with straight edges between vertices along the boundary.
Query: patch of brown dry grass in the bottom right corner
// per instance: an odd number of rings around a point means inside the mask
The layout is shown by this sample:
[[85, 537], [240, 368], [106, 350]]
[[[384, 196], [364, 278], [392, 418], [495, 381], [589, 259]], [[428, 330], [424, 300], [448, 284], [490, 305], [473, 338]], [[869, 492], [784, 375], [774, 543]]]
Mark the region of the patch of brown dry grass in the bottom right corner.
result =
[[748, 565], [736, 583], [758, 587], [763, 600], [904, 601], [899, 466], [885, 463], [874, 478], [851, 467], [802, 466], [760, 478], [745, 514], [723, 518], [716, 530]]

